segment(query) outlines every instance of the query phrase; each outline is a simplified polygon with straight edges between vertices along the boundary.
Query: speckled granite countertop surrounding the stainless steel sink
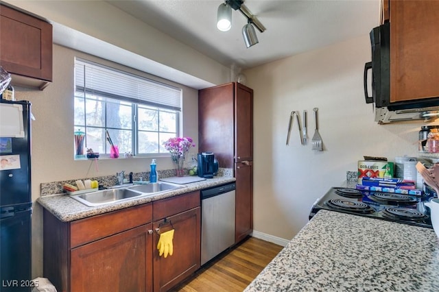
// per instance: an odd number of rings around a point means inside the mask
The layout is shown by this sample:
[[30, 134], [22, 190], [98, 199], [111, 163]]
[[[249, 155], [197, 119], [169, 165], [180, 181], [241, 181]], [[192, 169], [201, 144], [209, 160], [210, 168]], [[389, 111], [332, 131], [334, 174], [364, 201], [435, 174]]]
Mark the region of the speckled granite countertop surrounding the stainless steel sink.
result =
[[128, 208], [131, 206], [153, 202], [158, 199], [174, 197], [176, 195], [182, 195], [184, 193], [190, 193], [193, 191], [201, 190], [203, 188], [210, 188], [211, 186], [226, 184], [228, 182], [235, 182], [235, 178], [218, 176], [215, 178], [203, 180], [201, 182], [185, 184], [184, 188], [178, 188], [173, 191], [159, 193], [154, 196], [139, 197], [135, 199], [130, 199], [125, 202], [115, 202], [112, 204], [106, 204], [97, 207], [85, 206], [84, 204], [76, 201], [75, 199], [72, 199], [69, 195], [66, 194], [46, 195], [43, 197], [39, 197], [37, 199], [37, 202], [45, 209], [49, 210], [49, 212], [55, 215], [58, 219], [60, 219], [60, 221], [68, 222], [103, 214], [110, 211], [119, 210], [122, 208]]

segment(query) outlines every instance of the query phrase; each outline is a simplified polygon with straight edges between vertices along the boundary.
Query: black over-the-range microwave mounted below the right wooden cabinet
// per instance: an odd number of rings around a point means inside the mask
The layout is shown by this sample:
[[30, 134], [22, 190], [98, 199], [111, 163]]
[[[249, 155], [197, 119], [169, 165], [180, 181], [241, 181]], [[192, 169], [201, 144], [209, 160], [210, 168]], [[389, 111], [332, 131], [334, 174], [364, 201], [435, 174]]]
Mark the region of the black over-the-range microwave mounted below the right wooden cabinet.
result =
[[[374, 104], [375, 121], [391, 123], [423, 119], [436, 119], [439, 97], [414, 101], [390, 102], [390, 23], [375, 27], [370, 32], [372, 62], [364, 65], [364, 96], [366, 104]], [[372, 74], [368, 75], [371, 70]], [[368, 76], [371, 76], [372, 94], [368, 93]]]

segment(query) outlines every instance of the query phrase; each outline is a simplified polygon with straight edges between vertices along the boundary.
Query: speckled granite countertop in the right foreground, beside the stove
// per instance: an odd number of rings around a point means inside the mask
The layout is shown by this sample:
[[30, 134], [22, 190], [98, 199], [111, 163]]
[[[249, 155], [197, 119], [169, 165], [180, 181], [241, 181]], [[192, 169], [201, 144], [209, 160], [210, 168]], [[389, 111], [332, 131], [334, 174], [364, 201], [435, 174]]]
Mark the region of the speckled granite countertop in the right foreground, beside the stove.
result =
[[439, 291], [439, 239], [320, 210], [244, 291]]

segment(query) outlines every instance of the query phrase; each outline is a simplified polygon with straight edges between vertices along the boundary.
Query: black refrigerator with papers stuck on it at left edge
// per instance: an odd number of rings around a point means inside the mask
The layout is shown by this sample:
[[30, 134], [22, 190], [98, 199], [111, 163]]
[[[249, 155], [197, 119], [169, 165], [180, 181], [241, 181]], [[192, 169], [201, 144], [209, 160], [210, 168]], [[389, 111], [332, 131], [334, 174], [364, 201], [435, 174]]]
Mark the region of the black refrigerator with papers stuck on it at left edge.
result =
[[31, 104], [0, 100], [0, 291], [30, 291]]

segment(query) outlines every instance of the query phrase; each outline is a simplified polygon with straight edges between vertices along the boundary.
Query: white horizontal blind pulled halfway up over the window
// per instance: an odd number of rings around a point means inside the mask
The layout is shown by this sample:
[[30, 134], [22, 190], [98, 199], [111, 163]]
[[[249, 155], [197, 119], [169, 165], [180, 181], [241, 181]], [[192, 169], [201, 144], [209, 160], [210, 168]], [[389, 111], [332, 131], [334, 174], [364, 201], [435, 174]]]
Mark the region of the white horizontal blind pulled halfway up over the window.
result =
[[86, 60], [75, 60], [76, 90], [181, 111], [181, 89]]

